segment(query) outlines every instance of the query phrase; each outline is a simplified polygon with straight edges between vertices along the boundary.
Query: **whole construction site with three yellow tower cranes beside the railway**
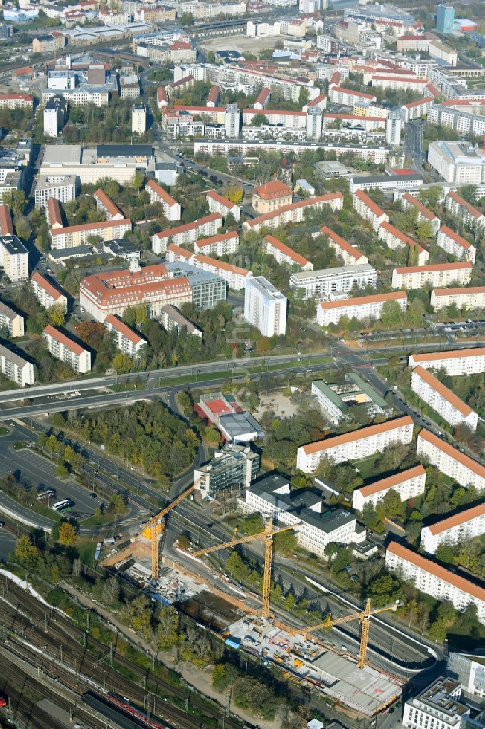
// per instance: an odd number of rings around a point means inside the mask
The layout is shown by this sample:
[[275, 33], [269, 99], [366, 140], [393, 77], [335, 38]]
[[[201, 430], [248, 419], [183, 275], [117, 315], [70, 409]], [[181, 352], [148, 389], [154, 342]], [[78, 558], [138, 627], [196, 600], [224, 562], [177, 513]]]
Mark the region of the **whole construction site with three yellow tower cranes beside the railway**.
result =
[[[253, 655], [265, 666], [280, 668], [283, 678], [289, 682], [318, 690], [321, 695], [328, 696], [361, 717], [373, 717], [395, 702], [401, 696], [403, 681], [371, 666], [367, 660], [367, 647], [371, 617], [395, 610], [398, 604], [373, 610], [367, 600], [365, 608], [358, 612], [336, 619], [327, 615], [323, 623], [305, 628], [285, 625], [272, 615], [269, 605], [272, 537], [280, 531], [298, 529], [297, 524], [277, 529], [269, 519], [265, 531], [237, 538], [236, 529], [229, 542], [213, 547], [181, 550], [175, 545], [175, 554], [181, 555], [180, 564], [176, 559], [162, 556], [165, 517], [194, 488], [191, 486], [151, 518], [131, 542], [113, 550], [101, 564], [119, 570], [131, 582], [144, 588], [154, 601], [176, 604], [178, 609], [196, 617], [219, 637], [222, 636], [233, 650]], [[234, 548], [255, 539], [264, 540], [261, 608], [255, 593], [245, 593], [226, 575], [215, 574], [213, 567], [205, 561], [209, 553]], [[182, 564], [183, 558], [194, 561], [193, 570]], [[221, 607], [224, 605], [226, 608]], [[216, 610], [218, 619], [214, 619]], [[358, 656], [352, 655], [344, 645], [342, 650], [338, 650], [331, 641], [327, 644], [325, 639], [317, 639], [314, 635], [316, 631], [327, 631], [350, 620], [360, 623]]]

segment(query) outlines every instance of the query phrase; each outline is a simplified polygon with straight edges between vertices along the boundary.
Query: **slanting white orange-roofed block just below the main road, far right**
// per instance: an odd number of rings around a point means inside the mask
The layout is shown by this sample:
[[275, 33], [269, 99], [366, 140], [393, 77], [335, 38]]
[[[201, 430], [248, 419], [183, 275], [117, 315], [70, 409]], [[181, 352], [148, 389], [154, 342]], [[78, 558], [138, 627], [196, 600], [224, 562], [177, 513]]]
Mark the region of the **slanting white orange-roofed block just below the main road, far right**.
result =
[[411, 390], [441, 415], [447, 423], [456, 428], [460, 424], [476, 430], [478, 415], [460, 397], [445, 387], [424, 367], [414, 367], [411, 374]]

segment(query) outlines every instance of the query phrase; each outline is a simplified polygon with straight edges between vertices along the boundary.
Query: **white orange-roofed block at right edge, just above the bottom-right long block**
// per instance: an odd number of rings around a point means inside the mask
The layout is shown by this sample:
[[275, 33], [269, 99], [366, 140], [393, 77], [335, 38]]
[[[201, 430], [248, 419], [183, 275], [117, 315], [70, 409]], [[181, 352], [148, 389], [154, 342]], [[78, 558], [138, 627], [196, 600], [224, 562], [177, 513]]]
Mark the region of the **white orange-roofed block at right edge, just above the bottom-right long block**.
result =
[[458, 545], [485, 534], [485, 503], [436, 521], [421, 530], [421, 546], [434, 554], [440, 545]]

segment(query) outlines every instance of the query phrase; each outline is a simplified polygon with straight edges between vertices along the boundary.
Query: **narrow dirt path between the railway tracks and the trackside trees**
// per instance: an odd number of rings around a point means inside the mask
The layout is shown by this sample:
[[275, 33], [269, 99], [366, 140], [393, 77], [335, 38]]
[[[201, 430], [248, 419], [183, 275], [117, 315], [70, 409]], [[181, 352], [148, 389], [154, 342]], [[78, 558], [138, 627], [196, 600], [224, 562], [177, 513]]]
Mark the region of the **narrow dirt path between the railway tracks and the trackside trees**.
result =
[[[138, 633], [133, 634], [133, 632], [130, 631], [127, 625], [125, 625], [124, 623], [120, 623], [119, 620], [117, 620], [116, 615], [113, 615], [113, 613], [109, 612], [108, 609], [98, 603], [93, 603], [87, 595], [79, 592], [79, 590], [76, 590], [76, 588], [74, 588], [72, 585], [69, 585], [67, 582], [62, 583], [62, 588], [63, 590], [66, 590], [66, 592], [68, 592], [71, 596], [77, 598], [79, 600], [79, 603], [82, 604], [84, 607], [94, 610], [96, 613], [98, 613], [98, 615], [100, 615], [100, 617], [103, 617], [105, 620], [109, 621], [109, 623], [115, 625], [118, 631], [123, 636], [125, 636], [127, 641], [138, 645], [138, 647], [142, 648], [150, 655], [157, 655], [157, 652], [154, 651], [149, 642], [147, 642], [144, 638], [138, 635]], [[183, 677], [189, 687], [193, 687], [194, 689], [196, 689], [202, 695], [202, 697], [208, 696], [214, 701], [217, 701], [224, 708], [227, 706], [227, 703], [229, 701], [229, 690], [225, 691], [224, 693], [220, 693], [215, 688], [213, 688], [211, 675], [212, 668], [195, 668], [195, 666], [193, 666], [192, 663], [189, 663], [188, 661], [175, 663], [170, 651], [159, 651], [157, 660], [159, 660], [160, 663], [163, 663], [163, 665], [167, 668], [171, 668], [173, 671]], [[280, 729], [281, 727], [280, 717], [276, 717], [275, 720], [272, 722], [260, 719], [259, 723], [256, 724], [256, 721], [258, 721], [256, 717], [254, 717], [253, 714], [250, 714], [249, 712], [245, 712], [244, 709], [239, 709], [232, 705], [231, 711], [233, 714], [236, 714], [236, 716], [240, 717], [240, 719], [242, 719], [243, 721], [255, 725], [259, 729]]]

